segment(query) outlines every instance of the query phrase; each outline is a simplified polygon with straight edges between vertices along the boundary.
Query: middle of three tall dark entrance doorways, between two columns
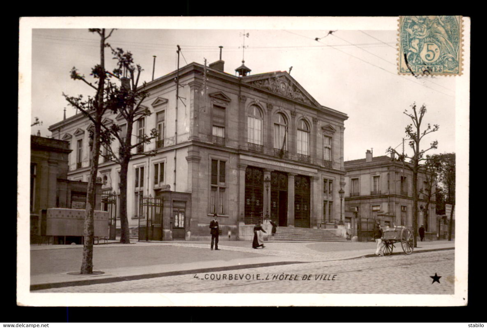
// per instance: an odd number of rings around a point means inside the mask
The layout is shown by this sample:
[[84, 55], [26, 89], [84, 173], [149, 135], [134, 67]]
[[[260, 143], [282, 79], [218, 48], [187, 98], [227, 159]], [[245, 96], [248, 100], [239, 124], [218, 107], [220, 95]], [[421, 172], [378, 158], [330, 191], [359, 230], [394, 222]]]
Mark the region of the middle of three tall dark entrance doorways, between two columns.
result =
[[287, 173], [271, 172], [271, 219], [287, 227]]

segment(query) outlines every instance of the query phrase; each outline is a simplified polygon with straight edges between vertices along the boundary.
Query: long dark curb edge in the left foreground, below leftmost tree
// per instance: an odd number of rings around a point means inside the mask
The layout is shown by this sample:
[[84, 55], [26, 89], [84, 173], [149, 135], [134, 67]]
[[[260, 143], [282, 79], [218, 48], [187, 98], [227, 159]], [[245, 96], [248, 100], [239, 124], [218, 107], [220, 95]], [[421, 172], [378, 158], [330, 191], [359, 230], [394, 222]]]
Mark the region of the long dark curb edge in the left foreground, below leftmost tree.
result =
[[115, 282], [122, 282], [122, 281], [168, 277], [168, 276], [184, 275], [184, 274], [191, 274], [191, 273], [253, 269], [253, 268], [262, 268], [262, 267], [272, 267], [278, 265], [298, 264], [298, 263], [309, 263], [309, 262], [283, 261], [283, 262], [270, 262], [270, 263], [256, 263], [256, 264], [244, 264], [244, 265], [235, 265], [235, 266], [227, 266], [227, 267], [217, 267], [217, 268], [202, 268], [202, 269], [169, 271], [169, 272], [160, 272], [160, 273], [137, 274], [137, 275], [131, 275], [125, 277], [107, 277], [107, 278], [98, 278], [98, 279], [91, 279], [91, 280], [76, 280], [76, 281], [66, 281], [66, 282], [58, 282], [58, 283], [46, 283], [46, 284], [31, 285], [30, 291], [51, 289], [51, 288], [61, 288], [61, 287], [71, 287], [71, 286], [108, 284], [108, 283], [115, 283]]

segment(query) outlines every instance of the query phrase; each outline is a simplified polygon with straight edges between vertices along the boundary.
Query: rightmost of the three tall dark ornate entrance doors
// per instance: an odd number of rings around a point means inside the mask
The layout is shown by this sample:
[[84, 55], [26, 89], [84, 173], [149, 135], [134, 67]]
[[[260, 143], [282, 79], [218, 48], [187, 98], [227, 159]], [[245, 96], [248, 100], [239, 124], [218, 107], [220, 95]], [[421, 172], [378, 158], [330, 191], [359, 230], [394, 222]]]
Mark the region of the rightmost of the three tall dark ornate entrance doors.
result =
[[294, 226], [309, 228], [310, 214], [310, 180], [309, 176], [296, 175], [294, 182]]

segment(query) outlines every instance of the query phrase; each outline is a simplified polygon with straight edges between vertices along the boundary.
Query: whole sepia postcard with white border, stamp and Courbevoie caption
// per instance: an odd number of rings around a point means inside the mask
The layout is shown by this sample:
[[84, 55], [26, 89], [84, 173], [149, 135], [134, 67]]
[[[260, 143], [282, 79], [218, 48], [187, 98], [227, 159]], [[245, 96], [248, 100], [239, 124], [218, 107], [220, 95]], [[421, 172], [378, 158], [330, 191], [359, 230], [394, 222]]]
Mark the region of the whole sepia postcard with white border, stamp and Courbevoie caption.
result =
[[469, 83], [462, 16], [22, 17], [17, 304], [466, 306]]

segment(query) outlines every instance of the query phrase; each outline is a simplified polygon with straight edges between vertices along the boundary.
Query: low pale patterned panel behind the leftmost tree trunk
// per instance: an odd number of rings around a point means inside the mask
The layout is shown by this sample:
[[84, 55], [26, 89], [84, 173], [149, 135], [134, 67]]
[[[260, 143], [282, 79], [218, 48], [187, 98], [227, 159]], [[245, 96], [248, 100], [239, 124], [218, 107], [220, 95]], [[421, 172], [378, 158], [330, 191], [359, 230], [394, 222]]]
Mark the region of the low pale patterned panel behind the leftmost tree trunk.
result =
[[[46, 236], [83, 236], [86, 210], [47, 209]], [[94, 236], [108, 237], [108, 212], [94, 211]]]

